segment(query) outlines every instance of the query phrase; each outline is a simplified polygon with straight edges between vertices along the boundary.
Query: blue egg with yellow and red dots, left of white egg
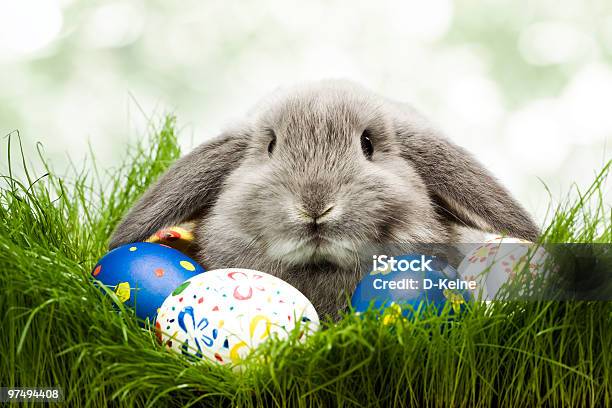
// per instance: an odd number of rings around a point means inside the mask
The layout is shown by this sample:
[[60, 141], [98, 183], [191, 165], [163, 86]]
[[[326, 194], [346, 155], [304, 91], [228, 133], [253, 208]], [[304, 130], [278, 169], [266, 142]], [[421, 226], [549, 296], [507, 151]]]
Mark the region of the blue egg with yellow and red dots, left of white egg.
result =
[[176, 249], [137, 242], [113, 249], [91, 275], [109, 287], [142, 319], [154, 321], [166, 297], [185, 280], [205, 272], [193, 259]]

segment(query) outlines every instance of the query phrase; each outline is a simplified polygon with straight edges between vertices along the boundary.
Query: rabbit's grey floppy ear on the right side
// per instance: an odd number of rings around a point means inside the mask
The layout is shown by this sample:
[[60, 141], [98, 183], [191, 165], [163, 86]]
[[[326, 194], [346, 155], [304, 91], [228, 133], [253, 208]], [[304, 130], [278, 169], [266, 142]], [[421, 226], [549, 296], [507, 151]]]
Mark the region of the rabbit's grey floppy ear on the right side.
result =
[[[398, 124], [401, 155], [424, 180], [441, 215], [451, 222], [534, 241], [538, 228], [510, 193], [465, 149], [416, 112]], [[412, 116], [412, 115], [410, 115]]]

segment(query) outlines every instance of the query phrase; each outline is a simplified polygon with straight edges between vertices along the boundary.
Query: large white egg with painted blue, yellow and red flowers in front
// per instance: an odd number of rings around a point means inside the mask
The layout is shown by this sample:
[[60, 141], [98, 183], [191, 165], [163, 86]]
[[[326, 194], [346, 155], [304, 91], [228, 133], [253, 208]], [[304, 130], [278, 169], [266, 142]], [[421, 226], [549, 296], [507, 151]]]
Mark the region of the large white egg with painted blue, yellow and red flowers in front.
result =
[[221, 364], [238, 363], [296, 325], [302, 335], [318, 328], [310, 301], [285, 281], [249, 269], [217, 269], [185, 281], [164, 301], [155, 324], [167, 348]]

